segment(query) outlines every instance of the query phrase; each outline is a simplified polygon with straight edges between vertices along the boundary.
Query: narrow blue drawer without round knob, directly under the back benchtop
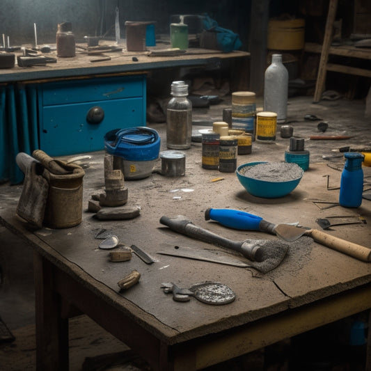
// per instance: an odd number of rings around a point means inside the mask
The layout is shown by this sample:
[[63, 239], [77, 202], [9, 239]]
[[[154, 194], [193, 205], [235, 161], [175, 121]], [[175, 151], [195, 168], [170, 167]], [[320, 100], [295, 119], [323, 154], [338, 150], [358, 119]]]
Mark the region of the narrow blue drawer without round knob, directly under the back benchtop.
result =
[[143, 97], [145, 75], [48, 82], [40, 93], [42, 106]]

